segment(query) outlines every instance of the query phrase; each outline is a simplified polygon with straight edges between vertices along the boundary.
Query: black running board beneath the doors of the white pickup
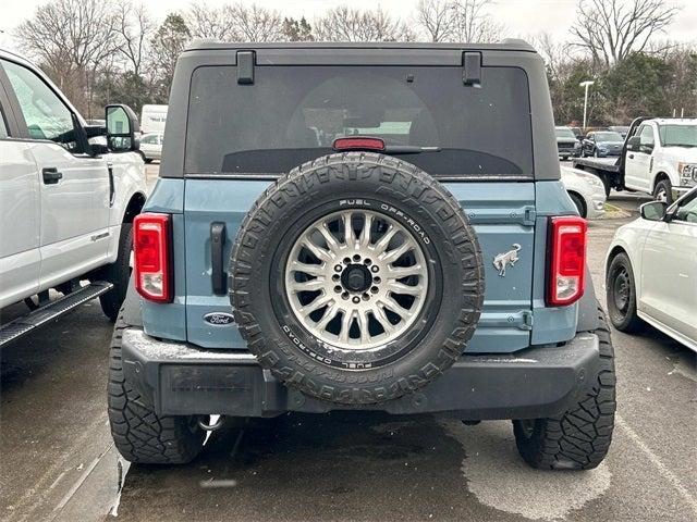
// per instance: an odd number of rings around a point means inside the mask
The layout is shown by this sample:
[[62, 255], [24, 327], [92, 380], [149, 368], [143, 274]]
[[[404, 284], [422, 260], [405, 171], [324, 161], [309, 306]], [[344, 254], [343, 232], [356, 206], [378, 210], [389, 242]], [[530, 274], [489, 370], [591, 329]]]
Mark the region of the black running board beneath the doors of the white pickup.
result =
[[22, 315], [14, 321], [0, 326], [0, 348], [33, 332], [44, 324], [64, 315], [75, 308], [106, 294], [113, 285], [103, 281], [96, 281], [80, 290], [56, 299], [48, 304]]

